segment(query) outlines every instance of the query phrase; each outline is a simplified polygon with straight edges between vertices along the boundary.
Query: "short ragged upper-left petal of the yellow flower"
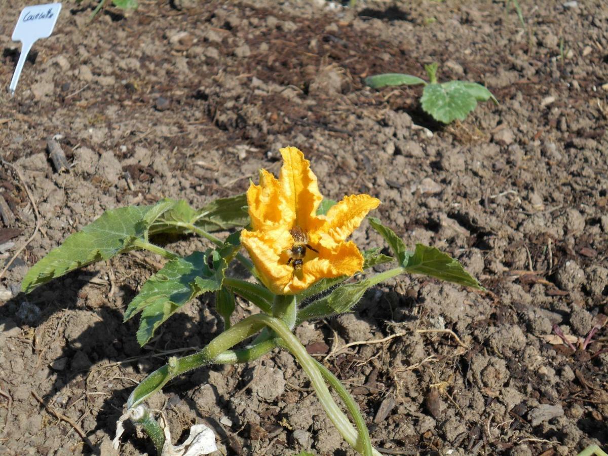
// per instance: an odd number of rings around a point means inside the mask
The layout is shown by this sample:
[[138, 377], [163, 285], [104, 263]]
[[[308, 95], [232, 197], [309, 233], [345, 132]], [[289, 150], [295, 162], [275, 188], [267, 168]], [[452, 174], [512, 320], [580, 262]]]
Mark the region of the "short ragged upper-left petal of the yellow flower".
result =
[[247, 205], [254, 230], [291, 226], [295, 219], [282, 196], [279, 181], [266, 170], [260, 170], [260, 185], [249, 185]]

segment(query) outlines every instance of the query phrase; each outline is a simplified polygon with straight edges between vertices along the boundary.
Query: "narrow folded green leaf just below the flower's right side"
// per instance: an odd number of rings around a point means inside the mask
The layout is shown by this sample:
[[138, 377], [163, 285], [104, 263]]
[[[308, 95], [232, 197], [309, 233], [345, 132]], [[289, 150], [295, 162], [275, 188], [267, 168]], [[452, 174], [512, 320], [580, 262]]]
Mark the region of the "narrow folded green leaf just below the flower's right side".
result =
[[339, 286], [330, 294], [300, 309], [295, 325], [297, 326], [305, 320], [330, 317], [350, 311], [361, 300], [365, 291], [373, 285], [374, 282], [371, 278], [365, 278], [356, 283]]

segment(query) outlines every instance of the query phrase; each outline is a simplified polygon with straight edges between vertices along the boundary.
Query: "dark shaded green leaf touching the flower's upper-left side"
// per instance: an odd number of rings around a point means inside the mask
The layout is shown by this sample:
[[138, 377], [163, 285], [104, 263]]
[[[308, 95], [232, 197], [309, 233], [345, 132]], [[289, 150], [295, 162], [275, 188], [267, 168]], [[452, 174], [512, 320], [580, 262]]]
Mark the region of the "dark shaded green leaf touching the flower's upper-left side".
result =
[[231, 198], [220, 198], [202, 207], [195, 224], [205, 231], [224, 231], [249, 224], [247, 197], [244, 193]]

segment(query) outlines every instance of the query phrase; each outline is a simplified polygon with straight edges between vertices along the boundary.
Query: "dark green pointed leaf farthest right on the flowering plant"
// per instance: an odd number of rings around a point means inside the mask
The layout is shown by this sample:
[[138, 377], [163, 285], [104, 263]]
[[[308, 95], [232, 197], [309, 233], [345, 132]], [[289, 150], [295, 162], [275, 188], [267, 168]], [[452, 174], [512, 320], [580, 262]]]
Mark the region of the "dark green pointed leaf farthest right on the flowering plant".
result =
[[483, 290], [479, 282], [462, 267], [457, 260], [440, 252], [435, 247], [416, 244], [414, 254], [409, 257], [407, 264], [403, 265], [410, 274], [430, 275], [430, 277], [470, 286]]

